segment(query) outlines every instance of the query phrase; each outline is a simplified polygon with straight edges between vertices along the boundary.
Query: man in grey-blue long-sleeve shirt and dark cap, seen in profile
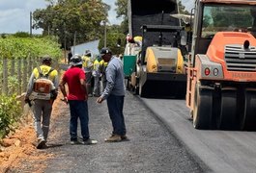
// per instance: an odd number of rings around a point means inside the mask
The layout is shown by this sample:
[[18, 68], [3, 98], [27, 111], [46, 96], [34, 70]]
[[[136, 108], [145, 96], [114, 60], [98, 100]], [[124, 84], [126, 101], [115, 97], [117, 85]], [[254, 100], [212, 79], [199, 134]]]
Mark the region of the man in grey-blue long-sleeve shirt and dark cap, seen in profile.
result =
[[112, 57], [108, 48], [102, 48], [100, 54], [104, 62], [108, 62], [106, 67], [106, 87], [97, 99], [101, 103], [106, 99], [110, 119], [112, 121], [112, 136], [105, 139], [106, 142], [117, 142], [128, 140], [125, 117], [123, 113], [125, 99], [125, 83], [123, 63], [120, 59]]

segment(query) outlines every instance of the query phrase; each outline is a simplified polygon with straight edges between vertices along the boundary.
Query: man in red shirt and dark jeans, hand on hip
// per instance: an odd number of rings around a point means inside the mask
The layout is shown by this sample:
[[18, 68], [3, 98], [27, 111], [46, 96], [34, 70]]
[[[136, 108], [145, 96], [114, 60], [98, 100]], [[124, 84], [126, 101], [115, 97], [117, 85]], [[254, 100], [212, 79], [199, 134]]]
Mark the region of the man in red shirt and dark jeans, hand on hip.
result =
[[[69, 95], [67, 95], [65, 85], [69, 86]], [[70, 104], [71, 122], [70, 135], [71, 144], [96, 144], [97, 140], [93, 140], [89, 136], [89, 115], [88, 115], [88, 93], [86, 90], [86, 78], [82, 69], [82, 58], [75, 55], [71, 58], [71, 68], [63, 75], [60, 82], [60, 89], [64, 96], [64, 101]], [[77, 120], [80, 120], [81, 135], [83, 141], [78, 141], [77, 137]]]

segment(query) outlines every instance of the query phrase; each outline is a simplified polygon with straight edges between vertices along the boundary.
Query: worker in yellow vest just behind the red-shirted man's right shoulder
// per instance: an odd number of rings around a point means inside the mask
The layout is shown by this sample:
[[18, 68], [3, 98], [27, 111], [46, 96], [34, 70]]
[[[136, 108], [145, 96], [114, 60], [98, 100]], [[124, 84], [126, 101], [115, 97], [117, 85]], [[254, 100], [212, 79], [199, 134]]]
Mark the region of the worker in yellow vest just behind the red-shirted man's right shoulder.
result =
[[85, 51], [85, 55], [82, 57], [82, 64], [86, 76], [86, 89], [88, 95], [92, 95], [92, 69], [93, 63], [91, 62], [92, 54], [90, 50]]

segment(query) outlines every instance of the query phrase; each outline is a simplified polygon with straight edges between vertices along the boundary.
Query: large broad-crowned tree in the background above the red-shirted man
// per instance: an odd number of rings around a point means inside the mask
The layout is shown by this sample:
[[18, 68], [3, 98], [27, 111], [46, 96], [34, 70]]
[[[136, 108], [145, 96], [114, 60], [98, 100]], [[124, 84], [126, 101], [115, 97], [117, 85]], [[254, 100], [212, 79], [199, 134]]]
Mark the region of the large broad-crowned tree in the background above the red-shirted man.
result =
[[[101, 0], [45, 0], [46, 9], [33, 12], [34, 28], [43, 35], [58, 36], [63, 47], [94, 40], [102, 35], [101, 21], [107, 20], [110, 7]], [[65, 46], [66, 45], [66, 46]]]

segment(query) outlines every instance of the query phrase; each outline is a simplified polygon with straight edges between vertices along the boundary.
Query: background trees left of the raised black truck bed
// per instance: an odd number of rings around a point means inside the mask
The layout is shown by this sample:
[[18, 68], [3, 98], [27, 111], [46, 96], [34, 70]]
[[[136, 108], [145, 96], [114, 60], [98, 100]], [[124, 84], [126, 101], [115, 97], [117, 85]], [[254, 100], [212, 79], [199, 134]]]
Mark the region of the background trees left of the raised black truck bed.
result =
[[[43, 35], [59, 37], [62, 48], [70, 49], [71, 45], [100, 39], [99, 48], [104, 42], [104, 22], [108, 23], [107, 12], [110, 7], [95, 0], [46, 0], [46, 9], [33, 12], [34, 28], [42, 28]], [[117, 47], [117, 39], [125, 40], [128, 33], [127, 0], [116, 2], [117, 17], [123, 17], [121, 25], [106, 25], [106, 42], [115, 54], [123, 53], [125, 44]], [[125, 36], [123, 36], [123, 34]], [[74, 42], [75, 37], [75, 42]]]

